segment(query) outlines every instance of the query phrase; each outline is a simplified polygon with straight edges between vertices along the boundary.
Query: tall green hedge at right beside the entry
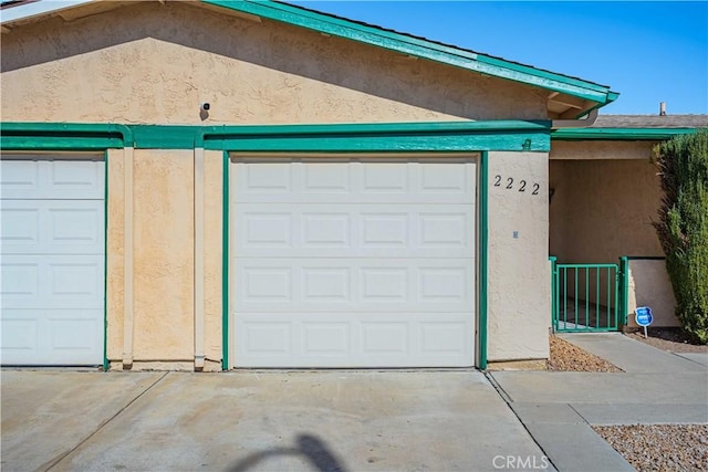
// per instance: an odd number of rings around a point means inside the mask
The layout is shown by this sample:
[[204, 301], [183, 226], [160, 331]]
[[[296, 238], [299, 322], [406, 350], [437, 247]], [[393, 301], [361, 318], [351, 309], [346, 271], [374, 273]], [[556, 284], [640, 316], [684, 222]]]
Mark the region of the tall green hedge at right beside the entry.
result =
[[676, 317], [708, 343], [708, 129], [654, 149], [664, 198], [655, 223], [676, 295]]

